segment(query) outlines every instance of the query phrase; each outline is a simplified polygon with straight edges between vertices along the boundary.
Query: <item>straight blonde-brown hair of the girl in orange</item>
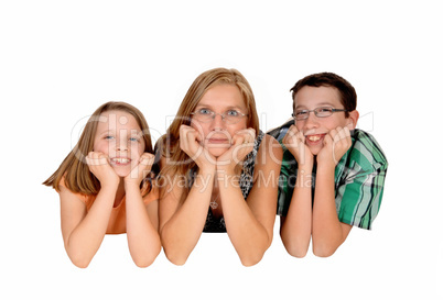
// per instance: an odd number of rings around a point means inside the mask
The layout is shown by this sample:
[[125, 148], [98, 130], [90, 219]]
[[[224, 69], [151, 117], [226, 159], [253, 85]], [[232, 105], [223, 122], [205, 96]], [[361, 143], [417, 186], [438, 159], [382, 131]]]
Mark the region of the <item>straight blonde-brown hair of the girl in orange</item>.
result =
[[[100, 190], [100, 181], [89, 171], [85, 157], [94, 148], [94, 138], [99, 116], [107, 111], [123, 111], [131, 114], [142, 130], [144, 152], [153, 153], [151, 134], [143, 114], [137, 108], [126, 102], [107, 102], [93, 113], [75, 147], [66, 156], [58, 169], [47, 178], [43, 185], [53, 187], [60, 191], [60, 181], [63, 179], [66, 188], [75, 193], [79, 192], [88, 196], [98, 193]], [[149, 190], [147, 190], [147, 192]]]

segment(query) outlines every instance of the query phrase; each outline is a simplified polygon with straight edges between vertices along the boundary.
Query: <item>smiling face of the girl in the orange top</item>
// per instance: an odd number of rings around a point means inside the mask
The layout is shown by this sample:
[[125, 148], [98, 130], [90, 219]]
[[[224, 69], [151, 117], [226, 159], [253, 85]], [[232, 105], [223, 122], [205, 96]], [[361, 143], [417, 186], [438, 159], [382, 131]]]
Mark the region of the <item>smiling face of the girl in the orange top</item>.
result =
[[144, 140], [136, 119], [123, 111], [100, 114], [94, 138], [94, 152], [109, 156], [109, 164], [120, 177], [126, 177], [143, 154]]

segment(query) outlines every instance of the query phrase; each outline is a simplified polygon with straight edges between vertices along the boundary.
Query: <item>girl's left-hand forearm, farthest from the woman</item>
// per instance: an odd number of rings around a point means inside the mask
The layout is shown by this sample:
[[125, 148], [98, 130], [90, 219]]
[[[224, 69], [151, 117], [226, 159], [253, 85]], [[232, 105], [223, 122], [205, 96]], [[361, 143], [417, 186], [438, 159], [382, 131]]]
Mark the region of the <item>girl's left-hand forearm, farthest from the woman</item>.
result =
[[105, 237], [117, 187], [101, 188], [86, 216], [65, 238], [66, 253], [78, 267], [87, 267]]

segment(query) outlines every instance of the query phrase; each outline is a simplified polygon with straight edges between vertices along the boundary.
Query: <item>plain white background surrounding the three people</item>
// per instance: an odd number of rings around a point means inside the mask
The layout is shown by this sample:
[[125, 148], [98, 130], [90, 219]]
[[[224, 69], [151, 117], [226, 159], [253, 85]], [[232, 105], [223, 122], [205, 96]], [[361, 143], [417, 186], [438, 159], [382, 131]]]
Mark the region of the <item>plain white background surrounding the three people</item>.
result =
[[[1, 299], [440, 299], [443, 234], [439, 1], [1, 1]], [[359, 126], [389, 159], [380, 213], [326, 259], [290, 257], [278, 235], [242, 267], [226, 234], [185, 266], [131, 262], [107, 236], [87, 269], [67, 258], [58, 196], [41, 185], [82, 121], [121, 100], [154, 141], [204, 70], [249, 80], [261, 129], [291, 113], [289, 89], [334, 71], [358, 93]], [[78, 123], [79, 122], [79, 123]], [[440, 282], [440, 285], [439, 285]], [[192, 298], [191, 298], [192, 297]]]

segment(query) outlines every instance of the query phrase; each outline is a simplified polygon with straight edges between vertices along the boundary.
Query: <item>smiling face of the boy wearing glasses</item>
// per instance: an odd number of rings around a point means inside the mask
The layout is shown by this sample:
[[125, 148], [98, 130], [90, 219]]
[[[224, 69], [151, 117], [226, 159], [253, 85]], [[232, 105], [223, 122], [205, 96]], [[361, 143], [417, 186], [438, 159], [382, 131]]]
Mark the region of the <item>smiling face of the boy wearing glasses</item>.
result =
[[[301, 88], [294, 97], [294, 111], [314, 110], [318, 107], [333, 107], [334, 109], [344, 109], [341, 102], [341, 96], [334, 87], [310, 87]], [[306, 145], [313, 155], [317, 155], [323, 148], [324, 136], [338, 126], [348, 126], [354, 130], [358, 120], [356, 110], [345, 116], [345, 112], [334, 112], [331, 116], [318, 118], [311, 112], [305, 120], [295, 121], [295, 126], [302, 131], [306, 137]]]

